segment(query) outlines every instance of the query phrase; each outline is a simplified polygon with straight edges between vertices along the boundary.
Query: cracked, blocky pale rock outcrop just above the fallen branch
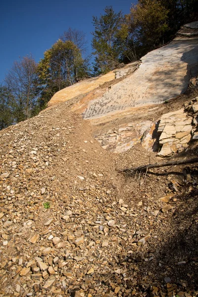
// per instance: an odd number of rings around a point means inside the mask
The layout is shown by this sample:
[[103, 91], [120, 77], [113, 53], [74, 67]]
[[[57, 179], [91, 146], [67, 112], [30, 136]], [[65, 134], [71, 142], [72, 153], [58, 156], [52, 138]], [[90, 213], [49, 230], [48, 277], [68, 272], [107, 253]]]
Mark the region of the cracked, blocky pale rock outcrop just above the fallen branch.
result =
[[[168, 112], [152, 124], [143, 140], [143, 147], [159, 150], [158, 156], [167, 157], [188, 148], [189, 142], [197, 138], [198, 97], [185, 108]], [[153, 136], [153, 131], [156, 130]]]

